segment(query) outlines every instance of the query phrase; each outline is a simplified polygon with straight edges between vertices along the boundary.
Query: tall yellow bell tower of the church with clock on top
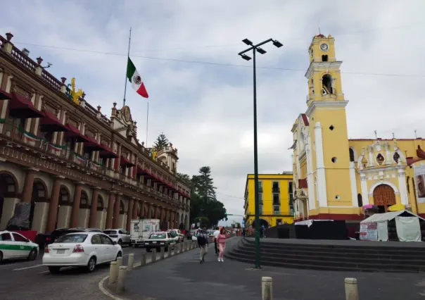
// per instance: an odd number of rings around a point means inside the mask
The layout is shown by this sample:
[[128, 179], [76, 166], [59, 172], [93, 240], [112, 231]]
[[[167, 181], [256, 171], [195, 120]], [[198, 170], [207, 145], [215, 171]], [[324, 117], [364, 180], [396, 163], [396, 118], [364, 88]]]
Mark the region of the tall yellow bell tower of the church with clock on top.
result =
[[[315, 149], [319, 209], [352, 206], [350, 157], [345, 101], [341, 85], [342, 61], [335, 56], [334, 37], [316, 35], [310, 45], [307, 116]], [[313, 142], [314, 141], [314, 142]], [[328, 212], [329, 213], [329, 212]]]

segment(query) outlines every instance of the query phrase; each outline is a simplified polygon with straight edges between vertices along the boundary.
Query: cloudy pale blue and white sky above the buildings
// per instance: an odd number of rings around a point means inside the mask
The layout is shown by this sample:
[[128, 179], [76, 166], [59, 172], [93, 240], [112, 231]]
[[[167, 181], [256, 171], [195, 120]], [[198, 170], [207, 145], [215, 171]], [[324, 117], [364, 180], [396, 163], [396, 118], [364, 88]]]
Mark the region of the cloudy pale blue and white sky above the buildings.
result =
[[[217, 199], [243, 214], [253, 173], [253, 68], [237, 54], [248, 38], [273, 38], [258, 54], [260, 173], [291, 170], [291, 125], [307, 106], [307, 49], [335, 38], [350, 138], [425, 136], [425, 1], [14, 0], [1, 4], [0, 35], [75, 77], [92, 106], [122, 106], [130, 57], [149, 94], [127, 89], [138, 138], [163, 132], [178, 149], [178, 172], [211, 167]], [[149, 105], [146, 122], [147, 103]], [[229, 223], [232, 218], [229, 218]], [[240, 221], [240, 217], [233, 219]]]

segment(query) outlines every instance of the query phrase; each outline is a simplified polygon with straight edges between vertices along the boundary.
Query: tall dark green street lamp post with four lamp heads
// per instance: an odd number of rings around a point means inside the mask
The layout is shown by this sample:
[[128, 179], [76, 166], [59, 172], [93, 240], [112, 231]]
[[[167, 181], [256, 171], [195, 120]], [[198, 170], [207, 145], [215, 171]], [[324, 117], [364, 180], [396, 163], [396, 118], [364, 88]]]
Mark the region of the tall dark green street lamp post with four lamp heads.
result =
[[255, 199], [255, 268], [260, 269], [260, 203], [258, 201], [258, 141], [257, 141], [257, 78], [255, 75], [255, 52], [258, 51], [259, 54], [265, 54], [266, 51], [260, 46], [272, 42], [274, 46], [280, 48], [284, 46], [281, 42], [276, 39], [267, 39], [264, 42], [254, 45], [249, 39], [243, 39], [242, 42], [250, 46], [248, 49], [245, 49], [239, 52], [243, 59], [250, 61], [250, 56], [247, 56], [245, 53], [248, 51], [253, 51], [253, 64], [254, 64], [254, 199]]

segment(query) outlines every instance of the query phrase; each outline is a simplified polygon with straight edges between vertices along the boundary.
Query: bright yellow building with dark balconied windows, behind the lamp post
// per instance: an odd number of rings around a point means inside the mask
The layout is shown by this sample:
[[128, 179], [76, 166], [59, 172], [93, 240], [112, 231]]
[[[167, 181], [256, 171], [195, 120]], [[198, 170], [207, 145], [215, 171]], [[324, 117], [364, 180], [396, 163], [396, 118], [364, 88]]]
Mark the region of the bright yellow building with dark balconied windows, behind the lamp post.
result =
[[[272, 227], [293, 223], [293, 176], [292, 172], [282, 174], [259, 174], [260, 225]], [[254, 175], [246, 176], [245, 225], [255, 226]]]

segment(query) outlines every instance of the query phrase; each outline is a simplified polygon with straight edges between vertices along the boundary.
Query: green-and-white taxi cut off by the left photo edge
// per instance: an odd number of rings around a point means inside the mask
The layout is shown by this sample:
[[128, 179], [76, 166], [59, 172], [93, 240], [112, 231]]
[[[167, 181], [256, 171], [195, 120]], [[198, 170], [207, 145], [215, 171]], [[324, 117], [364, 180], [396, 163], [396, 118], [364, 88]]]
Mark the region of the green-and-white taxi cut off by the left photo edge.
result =
[[26, 258], [34, 261], [39, 246], [17, 232], [0, 231], [0, 263], [4, 259]]

